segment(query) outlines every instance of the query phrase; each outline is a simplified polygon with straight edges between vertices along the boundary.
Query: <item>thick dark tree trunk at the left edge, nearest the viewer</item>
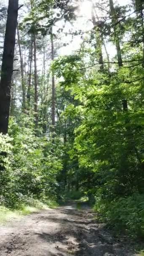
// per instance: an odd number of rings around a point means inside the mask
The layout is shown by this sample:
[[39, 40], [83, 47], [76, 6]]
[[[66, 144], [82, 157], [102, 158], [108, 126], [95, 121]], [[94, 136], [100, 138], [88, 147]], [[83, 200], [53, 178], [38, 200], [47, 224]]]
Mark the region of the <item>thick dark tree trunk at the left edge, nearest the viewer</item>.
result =
[[8, 119], [11, 103], [11, 79], [13, 74], [14, 48], [19, 0], [9, 0], [5, 31], [3, 61], [0, 80], [0, 132], [8, 132]]

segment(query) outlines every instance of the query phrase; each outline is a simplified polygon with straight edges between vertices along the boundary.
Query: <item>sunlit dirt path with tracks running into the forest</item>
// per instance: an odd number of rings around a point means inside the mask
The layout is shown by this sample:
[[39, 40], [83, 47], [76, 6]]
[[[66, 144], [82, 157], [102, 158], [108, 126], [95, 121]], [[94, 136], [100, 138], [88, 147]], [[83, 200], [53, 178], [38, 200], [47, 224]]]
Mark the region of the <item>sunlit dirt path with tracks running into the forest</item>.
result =
[[89, 210], [41, 211], [0, 227], [0, 256], [133, 256]]

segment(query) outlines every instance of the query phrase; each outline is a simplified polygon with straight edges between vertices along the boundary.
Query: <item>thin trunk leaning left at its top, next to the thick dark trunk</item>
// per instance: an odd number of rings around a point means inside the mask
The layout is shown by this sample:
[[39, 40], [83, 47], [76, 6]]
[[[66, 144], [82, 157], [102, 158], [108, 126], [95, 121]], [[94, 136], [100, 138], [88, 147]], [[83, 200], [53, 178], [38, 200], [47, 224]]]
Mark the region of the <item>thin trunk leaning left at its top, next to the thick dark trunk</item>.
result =
[[17, 36], [18, 36], [18, 45], [19, 45], [19, 55], [20, 55], [20, 64], [21, 64], [21, 86], [22, 86], [22, 110], [26, 108], [26, 88], [25, 88], [25, 79], [24, 79], [24, 61], [21, 50], [21, 41], [19, 36], [19, 26], [17, 24]]

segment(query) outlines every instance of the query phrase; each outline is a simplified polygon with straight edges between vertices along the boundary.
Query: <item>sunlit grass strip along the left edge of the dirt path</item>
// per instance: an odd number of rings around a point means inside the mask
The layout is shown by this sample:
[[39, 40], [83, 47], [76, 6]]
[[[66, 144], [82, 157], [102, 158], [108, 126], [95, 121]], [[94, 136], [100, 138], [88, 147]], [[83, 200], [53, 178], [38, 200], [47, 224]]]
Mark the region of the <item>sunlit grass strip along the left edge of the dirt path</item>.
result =
[[49, 208], [57, 208], [55, 201], [47, 200], [42, 203], [38, 200], [30, 201], [29, 205], [21, 205], [19, 209], [8, 209], [0, 206], [0, 223], [4, 224], [12, 219], [19, 219], [21, 216], [39, 212], [40, 210], [48, 210]]

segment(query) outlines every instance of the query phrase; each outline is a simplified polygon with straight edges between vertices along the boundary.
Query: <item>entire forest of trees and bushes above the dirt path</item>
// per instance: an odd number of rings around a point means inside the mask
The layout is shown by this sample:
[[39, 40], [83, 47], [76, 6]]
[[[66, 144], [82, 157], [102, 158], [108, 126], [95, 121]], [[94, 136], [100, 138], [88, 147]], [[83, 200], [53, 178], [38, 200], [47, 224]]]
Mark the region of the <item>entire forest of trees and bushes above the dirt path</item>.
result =
[[144, 238], [144, 0], [1, 0], [0, 70], [0, 214], [82, 198]]

